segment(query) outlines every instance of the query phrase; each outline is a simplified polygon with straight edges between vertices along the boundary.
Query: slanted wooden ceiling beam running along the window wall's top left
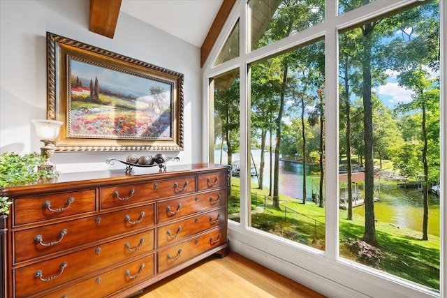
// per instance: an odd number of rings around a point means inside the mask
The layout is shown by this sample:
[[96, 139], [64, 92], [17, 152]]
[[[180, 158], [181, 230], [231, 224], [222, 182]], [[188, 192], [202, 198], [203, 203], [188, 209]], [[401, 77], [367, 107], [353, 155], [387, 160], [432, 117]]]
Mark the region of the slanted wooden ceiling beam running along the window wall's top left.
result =
[[200, 48], [200, 67], [203, 67], [203, 64], [207, 61], [212, 47], [214, 46], [214, 43], [216, 43], [223, 25], [228, 19], [228, 15], [230, 15], [235, 3], [236, 0], [223, 0], [221, 8], [219, 8], [219, 12], [217, 12], [214, 22], [212, 22], [210, 31], [208, 31], [207, 37], [203, 41], [202, 47]]

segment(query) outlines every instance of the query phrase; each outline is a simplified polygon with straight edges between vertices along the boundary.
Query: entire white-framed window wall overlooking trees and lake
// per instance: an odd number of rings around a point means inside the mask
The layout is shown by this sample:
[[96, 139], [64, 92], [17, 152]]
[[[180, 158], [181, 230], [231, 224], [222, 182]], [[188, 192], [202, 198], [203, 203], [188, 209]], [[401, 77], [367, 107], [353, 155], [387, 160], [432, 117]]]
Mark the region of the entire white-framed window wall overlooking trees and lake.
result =
[[447, 294], [446, 6], [237, 1], [239, 55], [204, 68], [233, 248], [360, 296]]

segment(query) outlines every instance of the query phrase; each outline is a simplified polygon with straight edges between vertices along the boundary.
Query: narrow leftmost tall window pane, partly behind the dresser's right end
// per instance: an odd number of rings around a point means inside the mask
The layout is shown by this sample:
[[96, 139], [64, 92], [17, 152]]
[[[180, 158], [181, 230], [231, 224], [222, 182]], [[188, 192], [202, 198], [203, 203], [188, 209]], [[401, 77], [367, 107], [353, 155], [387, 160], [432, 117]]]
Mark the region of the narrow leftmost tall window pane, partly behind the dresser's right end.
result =
[[238, 167], [240, 156], [240, 96], [239, 70], [232, 70], [211, 80], [214, 91], [214, 140], [211, 144], [210, 162], [232, 166], [230, 198], [228, 198], [228, 219], [240, 223], [240, 177]]

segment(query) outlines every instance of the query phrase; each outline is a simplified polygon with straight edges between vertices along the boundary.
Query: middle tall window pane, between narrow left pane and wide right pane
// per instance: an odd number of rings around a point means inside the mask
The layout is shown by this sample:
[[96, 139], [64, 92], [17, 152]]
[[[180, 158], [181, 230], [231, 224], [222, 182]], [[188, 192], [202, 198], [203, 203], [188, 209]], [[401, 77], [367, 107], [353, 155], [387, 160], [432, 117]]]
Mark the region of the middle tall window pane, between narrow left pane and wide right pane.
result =
[[324, 42], [251, 65], [251, 226], [324, 250]]

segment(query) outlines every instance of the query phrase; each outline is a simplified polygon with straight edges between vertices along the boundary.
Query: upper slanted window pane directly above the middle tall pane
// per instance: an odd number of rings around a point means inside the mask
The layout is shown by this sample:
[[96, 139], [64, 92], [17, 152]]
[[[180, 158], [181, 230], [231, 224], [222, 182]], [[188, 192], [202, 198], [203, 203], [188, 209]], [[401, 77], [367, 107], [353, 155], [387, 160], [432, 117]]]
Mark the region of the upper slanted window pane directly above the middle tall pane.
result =
[[249, 0], [251, 50], [324, 21], [324, 0]]

